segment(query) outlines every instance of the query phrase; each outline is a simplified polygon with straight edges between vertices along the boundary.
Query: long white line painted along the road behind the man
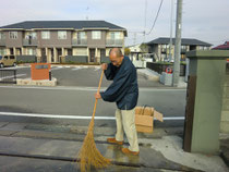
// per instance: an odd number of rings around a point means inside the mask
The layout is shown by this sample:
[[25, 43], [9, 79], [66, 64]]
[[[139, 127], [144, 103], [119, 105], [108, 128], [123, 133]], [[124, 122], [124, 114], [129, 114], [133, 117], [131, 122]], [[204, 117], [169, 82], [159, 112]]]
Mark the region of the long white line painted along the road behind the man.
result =
[[[85, 115], [60, 115], [60, 114], [16, 113], [16, 112], [0, 112], [0, 115], [32, 116], [32, 118], [47, 118], [47, 119], [71, 119], [71, 120], [91, 120], [92, 119], [92, 116], [85, 116]], [[116, 120], [116, 118], [114, 116], [95, 116], [95, 120]], [[174, 121], [174, 120], [184, 120], [184, 116], [164, 118], [164, 121]]]

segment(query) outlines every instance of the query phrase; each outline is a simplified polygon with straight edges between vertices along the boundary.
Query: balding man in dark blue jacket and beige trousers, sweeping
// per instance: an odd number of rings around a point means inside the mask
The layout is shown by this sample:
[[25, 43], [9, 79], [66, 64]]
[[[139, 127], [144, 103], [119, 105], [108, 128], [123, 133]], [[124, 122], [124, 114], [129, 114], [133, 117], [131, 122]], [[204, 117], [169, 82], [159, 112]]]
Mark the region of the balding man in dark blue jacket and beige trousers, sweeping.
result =
[[136, 69], [128, 57], [123, 57], [119, 48], [111, 49], [109, 58], [111, 63], [104, 63], [101, 69], [105, 71], [106, 78], [113, 81], [113, 83], [106, 91], [95, 94], [95, 98], [116, 102], [118, 107], [116, 111], [116, 137], [108, 138], [107, 142], [123, 145], [123, 134], [125, 133], [130, 146], [129, 148], [122, 148], [122, 152], [138, 155], [134, 111], [138, 98]]

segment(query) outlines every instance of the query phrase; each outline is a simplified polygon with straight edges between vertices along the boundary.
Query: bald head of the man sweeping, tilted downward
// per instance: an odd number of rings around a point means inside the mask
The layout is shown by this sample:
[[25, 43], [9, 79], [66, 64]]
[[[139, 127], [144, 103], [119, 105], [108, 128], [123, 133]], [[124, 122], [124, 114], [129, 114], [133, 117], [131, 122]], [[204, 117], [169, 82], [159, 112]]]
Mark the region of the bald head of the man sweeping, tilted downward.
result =
[[112, 48], [109, 52], [109, 58], [113, 65], [120, 66], [124, 57], [119, 48]]

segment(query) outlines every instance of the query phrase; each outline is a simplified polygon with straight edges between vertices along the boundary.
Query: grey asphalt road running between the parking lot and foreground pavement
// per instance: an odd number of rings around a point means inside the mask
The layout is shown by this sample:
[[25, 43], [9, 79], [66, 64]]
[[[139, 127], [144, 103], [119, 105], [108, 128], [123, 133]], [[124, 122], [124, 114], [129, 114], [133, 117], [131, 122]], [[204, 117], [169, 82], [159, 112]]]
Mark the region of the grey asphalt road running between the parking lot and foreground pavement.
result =
[[[91, 116], [94, 108], [94, 94], [96, 88], [84, 87], [19, 87], [0, 86], [0, 112], [39, 113], [55, 115]], [[165, 116], [184, 116], [185, 90], [141, 88], [138, 106], [148, 105]], [[113, 116], [116, 105], [98, 101], [96, 115]], [[1, 116], [1, 121], [16, 122], [50, 122], [52, 119], [17, 119], [15, 116]], [[88, 120], [59, 120], [53, 123], [77, 123], [87, 125]], [[109, 120], [98, 122], [99, 125], [109, 124]], [[182, 125], [183, 121], [169, 121], [169, 125]], [[166, 123], [167, 124], [167, 123]], [[165, 125], [166, 125], [165, 124]]]

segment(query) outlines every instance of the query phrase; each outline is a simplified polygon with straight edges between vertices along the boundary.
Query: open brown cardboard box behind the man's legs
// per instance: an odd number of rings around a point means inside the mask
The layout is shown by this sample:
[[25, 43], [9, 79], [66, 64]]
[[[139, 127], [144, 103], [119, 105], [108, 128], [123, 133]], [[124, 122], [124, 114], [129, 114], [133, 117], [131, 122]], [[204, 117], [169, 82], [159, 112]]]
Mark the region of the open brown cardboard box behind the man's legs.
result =
[[162, 114], [152, 107], [135, 108], [135, 126], [137, 132], [153, 133], [154, 118], [162, 122]]

